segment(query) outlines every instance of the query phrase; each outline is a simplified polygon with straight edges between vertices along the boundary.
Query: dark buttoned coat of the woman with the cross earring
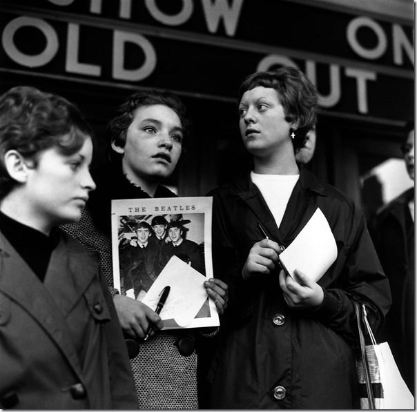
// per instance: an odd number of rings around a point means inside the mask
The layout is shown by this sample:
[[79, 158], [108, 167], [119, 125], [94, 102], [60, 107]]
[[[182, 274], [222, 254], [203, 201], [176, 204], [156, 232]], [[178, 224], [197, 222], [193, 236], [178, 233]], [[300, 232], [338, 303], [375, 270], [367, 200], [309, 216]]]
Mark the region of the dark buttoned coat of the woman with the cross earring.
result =
[[[300, 173], [280, 228], [248, 177], [211, 195], [214, 272], [229, 284], [230, 299], [209, 376], [210, 406], [358, 407], [353, 300], [366, 303], [374, 328], [391, 304], [387, 278], [358, 208], [308, 170]], [[253, 244], [264, 238], [258, 222], [270, 239], [287, 247], [317, 208], [329, 222], [338, 257], [318, 282], [324, 290], [321, 306], [295, 311], [284, 302], [278, 271], [245, 282], [242, 267]]]

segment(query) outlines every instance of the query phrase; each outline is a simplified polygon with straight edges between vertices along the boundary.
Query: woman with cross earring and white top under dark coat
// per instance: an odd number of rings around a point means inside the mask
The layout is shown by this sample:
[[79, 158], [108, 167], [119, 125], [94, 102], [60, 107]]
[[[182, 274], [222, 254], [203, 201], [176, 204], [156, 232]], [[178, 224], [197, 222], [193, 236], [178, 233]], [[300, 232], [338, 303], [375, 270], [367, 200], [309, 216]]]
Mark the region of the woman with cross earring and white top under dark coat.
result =
[[[281, 68], [251, 75], [239, 101], [254, 169], [211, 193], [215, 275], [229, 284], [230, 297], [209, 373], [210, 407], [359, 407], [353, 301], [365, 303], [376, 331], [391, 296], [362, 213], [295, 163], [316, 121], [316, 89], [300, 70]], [[278, 266], [280, 246], [291, 244], [317, 208], [336, 239], [336, 262], [318, 282], [300, 271], [292, 278]]]

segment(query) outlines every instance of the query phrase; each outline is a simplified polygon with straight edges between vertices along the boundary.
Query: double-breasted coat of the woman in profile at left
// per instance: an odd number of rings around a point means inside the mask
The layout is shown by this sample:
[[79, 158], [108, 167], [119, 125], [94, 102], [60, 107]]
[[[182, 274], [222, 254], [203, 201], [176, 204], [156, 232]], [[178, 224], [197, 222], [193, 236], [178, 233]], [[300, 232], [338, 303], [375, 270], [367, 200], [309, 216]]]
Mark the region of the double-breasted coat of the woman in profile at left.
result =
[[4, 409], [135, 409], [119, 320], [98, 259], [61, 233], [42, 283], [0, 233]]

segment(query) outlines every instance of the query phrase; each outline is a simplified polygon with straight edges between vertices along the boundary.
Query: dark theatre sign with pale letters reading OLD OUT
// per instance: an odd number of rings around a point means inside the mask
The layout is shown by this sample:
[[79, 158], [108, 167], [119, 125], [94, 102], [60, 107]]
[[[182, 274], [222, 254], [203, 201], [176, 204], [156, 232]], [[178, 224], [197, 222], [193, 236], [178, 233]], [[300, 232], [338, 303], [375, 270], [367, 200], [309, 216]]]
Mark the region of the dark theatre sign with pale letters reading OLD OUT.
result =
[[285, 64], [307, 73], [330, 114], [414, 113], [403, 21], [285, 0], [13, 0], [0, 11], [2, 72], [234, 102], [243, 77]]

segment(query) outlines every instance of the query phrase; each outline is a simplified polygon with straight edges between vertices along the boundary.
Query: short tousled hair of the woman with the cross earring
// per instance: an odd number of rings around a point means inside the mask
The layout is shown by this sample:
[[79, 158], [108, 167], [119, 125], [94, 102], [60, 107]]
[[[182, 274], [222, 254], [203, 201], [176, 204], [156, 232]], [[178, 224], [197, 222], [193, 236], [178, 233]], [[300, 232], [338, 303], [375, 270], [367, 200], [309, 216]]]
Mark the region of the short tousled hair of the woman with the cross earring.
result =
[[316, 124], [318, 93], [316, 87], [301, 70], [282, 67], [269, 72], [255, 72], [246, 77], [239, 89], [239, 100], [244, 92], [255, 87], [273, 88], [278, 92], [278, 100], [284, 108], [286, 120], [298, 121], [298, 129], [293, 139], [294, 150], [304, 145], [307, 132]]

